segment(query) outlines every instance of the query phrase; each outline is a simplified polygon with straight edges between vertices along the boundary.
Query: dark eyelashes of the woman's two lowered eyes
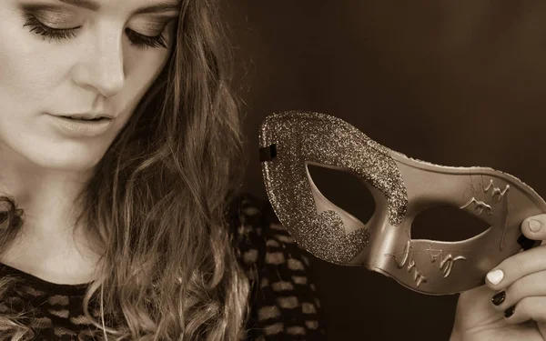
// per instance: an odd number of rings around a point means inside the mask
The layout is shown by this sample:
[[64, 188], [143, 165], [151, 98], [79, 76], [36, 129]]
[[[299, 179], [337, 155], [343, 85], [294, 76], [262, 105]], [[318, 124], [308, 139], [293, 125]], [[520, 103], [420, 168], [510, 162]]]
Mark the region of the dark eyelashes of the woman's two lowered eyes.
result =
[[[78, 26], [70, 29], [53, 28], [49, 27], [48, 25], [44, 25], [42, 22], [36, 19], [34, 15], [26, 14], [25, 17], [26, 23], [23, 25], [23, 27], [30, 26], [30, 32], [34, 31], [36, 35], [48, 36], [59, 41], [74, 38], [76, 36], [74, 31], [81, 27]], [[149, 47], [157, 48], [161, 46], [167, 48], [167, 42], [165, 41], [163, 34], [157, 36], [140, 35], [127, 28], [126, 35], [129, 37], [131, 45], [136, 45], [136, 47], [141, 49], [147, 49]]]

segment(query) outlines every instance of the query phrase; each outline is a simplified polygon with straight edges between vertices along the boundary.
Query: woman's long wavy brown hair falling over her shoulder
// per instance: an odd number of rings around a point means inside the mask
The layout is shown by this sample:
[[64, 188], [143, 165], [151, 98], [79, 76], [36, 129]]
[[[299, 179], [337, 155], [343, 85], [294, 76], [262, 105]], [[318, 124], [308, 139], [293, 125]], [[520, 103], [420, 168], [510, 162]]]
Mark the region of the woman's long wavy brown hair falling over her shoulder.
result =
[[[249, 285], [227, 211], [248, 156], [219, 15], [216, 1], [182, 2], [166, 67], [78, 196], [84, 208], [76, 226], [84, 221], [87, 239], [102, 250], [99, 275], [84, 298], [98, 339], [244, 334]], [[25, 212], [8, 194], [0, 204], [2, 252], [18, 236]], [[0, 297], [15, 281], [0, 280]], [[89, 313], [92, 302], [100, 303], [99, 318]], [[0, 339], [30, 340], [25, 318], [2, 313]]]

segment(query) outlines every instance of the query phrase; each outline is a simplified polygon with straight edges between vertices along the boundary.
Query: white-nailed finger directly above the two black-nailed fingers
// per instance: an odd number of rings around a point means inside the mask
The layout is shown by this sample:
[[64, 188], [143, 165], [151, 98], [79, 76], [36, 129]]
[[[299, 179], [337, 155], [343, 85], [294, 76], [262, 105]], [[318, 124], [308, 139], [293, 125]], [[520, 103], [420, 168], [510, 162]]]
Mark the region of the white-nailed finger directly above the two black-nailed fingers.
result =
[[486, 276], [486, 284], [501, 291], [523, 276], [546, 270], [546, 246], [537, 246], [506, 258]]

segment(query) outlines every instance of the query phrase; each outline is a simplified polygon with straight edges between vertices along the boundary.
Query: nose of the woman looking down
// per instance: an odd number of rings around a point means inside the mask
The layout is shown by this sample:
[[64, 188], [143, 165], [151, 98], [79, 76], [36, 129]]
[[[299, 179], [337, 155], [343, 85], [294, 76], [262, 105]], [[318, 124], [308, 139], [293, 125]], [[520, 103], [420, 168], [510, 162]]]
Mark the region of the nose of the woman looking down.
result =
[[125, 85], [124, 56], [120, 30], [110, 28], [87, 40], [85, 53], [73, 69], [77, 85], [91, 87], [94, 91], [111, 97]]

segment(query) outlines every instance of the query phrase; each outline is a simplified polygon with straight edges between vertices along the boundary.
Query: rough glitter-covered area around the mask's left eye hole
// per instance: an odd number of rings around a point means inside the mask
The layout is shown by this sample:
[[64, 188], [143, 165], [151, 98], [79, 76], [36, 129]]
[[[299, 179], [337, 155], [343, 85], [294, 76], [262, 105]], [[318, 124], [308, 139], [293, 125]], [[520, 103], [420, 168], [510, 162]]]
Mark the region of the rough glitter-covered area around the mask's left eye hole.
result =
[[283, 226], [313, 255], [346, 264], [368, 244], [369, 229], [363, 226], [347, 234], [338, 213], [317, 214], [306, 162], [354, 172], [385, 195], [389, 223], [402, 222], [408, 196], [399, 169], [387, 148], [354, 126], [319, 113], [273, 114], [259, 132], [259, 146], [271, 145], [276, 155], [261, 159], [269, 201]]

